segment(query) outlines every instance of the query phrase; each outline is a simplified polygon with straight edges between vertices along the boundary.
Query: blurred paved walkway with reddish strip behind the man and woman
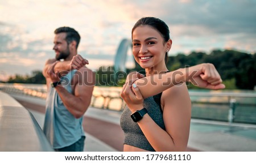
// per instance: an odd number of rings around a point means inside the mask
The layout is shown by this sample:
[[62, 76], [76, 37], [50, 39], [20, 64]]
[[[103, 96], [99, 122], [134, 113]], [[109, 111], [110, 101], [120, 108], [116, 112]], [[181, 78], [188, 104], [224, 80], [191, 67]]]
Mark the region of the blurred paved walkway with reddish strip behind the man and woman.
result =
[[[43, 127], [44, 100], [28, 96], [11, 96], [30, 110]], [[123, 132], [119, 126], [120, 115], [119, 111], [88, 108], [83, 122], [86, 132], [85, 151], [122, 151]], [[191, 119], [187, 151], [256, 152], [256, 125]]]

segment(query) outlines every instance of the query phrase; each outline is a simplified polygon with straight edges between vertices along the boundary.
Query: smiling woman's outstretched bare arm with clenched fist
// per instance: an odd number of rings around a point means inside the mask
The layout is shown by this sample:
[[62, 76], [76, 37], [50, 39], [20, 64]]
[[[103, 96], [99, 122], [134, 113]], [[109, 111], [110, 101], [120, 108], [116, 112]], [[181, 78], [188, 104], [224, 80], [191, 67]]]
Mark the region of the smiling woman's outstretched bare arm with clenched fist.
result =
[[[134, 80], [135, 78], [138, 78], [137, 74], [127, 76], [127, 80], [129, 81]], [[127, 81], [128, 84], [132, 84], [132, 82], [129, 81]], [[175, 71], [150, 75], [134, 81], [141, 91], [143, 98], [154, 96], [173, 87], [174, 85], [180, 85], [184, 82], [191, 82], [193, 85], [200, 88], [225, 88], [216, 68], [210, 63], [202, 63], [192, 67], [179, 68]]]

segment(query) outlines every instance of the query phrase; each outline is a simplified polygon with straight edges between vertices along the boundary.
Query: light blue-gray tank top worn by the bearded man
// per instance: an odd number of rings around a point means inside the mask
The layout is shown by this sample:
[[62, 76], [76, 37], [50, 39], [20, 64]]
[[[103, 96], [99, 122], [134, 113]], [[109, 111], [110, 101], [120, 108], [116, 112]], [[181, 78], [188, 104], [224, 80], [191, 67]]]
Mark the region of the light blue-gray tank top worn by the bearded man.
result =
[[[76, 70], [71, 70], [61, 78], [61, 85], [72, 93], [71, 79]], [[81, 136], [85, 136], [82, 128], [82, 117], [75, 118], [58, 95], [55, 88], [50, 87], [46, 99], [46, 117], [44, 119], [44, 134], [54, 149], [67, 147]]]

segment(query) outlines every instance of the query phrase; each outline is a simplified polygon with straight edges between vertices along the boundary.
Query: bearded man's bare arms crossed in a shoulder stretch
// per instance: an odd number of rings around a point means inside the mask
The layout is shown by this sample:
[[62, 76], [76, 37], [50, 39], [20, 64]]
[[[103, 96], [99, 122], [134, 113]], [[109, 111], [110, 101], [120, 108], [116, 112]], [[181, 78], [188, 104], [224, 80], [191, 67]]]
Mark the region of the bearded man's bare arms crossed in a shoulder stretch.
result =
[[59, 81], [60, 71], [69, 71], [72, 69], [78, 69], [73, 76], [73, 92], [69, 93], [61, 85], [55, 87], [65, 107], [76, 118], [80, 118], [84, 115], [86, 109], [90, 105], [92, 98], [92, 92], [95, 85], [94, 73], [86, 68], [84, 65], [88, 64], [86, 59], [83, 59], [80, 55], [75, 55], [72, 61], [59, 62], [56, 59], [49, 59], [44, 67], [43, 74], [47, 80], [47, 88], [51, 87], [50, 83]]

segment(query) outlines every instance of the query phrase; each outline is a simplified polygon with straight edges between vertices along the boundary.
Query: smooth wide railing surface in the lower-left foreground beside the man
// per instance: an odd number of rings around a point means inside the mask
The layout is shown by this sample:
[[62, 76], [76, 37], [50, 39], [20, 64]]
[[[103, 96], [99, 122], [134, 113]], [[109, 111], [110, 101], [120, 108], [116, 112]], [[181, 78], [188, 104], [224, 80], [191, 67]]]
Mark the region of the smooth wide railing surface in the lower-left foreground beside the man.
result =
[[0, 91], [0, 151], [53, 152], [33, 115]]

